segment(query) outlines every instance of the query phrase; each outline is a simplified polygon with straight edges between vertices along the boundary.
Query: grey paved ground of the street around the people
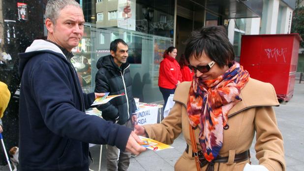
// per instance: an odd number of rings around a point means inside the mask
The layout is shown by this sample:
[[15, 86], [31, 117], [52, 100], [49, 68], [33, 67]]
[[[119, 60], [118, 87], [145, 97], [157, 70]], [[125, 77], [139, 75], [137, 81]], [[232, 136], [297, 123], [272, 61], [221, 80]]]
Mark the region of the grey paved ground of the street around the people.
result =
[[[286, 104], [274, 107], [278, 127], [283, 134], [286, 171], [304, 170], [304, 84], [296, 80], [294, 96]], [[255, 158], [254, 144], [250, 148], [252, 164], [258, 164]], [[128, 171], [174, 171], [174, 164], [182, 155], [186, 143], [182, 134], [171, 145], [174, 148], [154, 152], [147, 149], [136, 157], [131, 157]], [[100, 146], [91, 147], [94, 163], [91, 171], [98, 171]], [[101, 171], [106, 171], [106, 146], [102, 146]], [[0, 171], [9, 171], [0, 166]]]

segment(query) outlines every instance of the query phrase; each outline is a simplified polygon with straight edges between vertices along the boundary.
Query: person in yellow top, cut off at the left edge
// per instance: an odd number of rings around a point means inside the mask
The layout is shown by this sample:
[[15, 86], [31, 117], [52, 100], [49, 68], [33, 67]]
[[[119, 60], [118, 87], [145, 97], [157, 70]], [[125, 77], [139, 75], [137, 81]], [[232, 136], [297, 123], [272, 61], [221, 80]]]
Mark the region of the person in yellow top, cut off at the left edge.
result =
[[2, 120], [3, 113], [8, 105], [10, 99], [10, 92], [7, 88], [7, 85], [0, 81], [0, 133], [2, 133]]

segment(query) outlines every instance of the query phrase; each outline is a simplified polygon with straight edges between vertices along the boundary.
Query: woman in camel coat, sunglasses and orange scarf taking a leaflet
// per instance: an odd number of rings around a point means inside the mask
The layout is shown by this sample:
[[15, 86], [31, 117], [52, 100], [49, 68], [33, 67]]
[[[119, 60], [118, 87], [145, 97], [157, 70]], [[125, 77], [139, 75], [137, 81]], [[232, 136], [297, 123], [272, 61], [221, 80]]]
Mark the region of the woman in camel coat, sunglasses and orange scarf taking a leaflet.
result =
[[[225, 29], [212, 26], [193, 32], [185, 56], [196, 73], [193, 81], [177, 87], [168, 117], [158, 124], [137, 125], [136, 133], [166, 144], [183, 133], [187, 145], [176, 171], [285, 171], [274, 87], [250, 78], [233, 61]], [[250, 165], [255, 133], [259, 165]]]

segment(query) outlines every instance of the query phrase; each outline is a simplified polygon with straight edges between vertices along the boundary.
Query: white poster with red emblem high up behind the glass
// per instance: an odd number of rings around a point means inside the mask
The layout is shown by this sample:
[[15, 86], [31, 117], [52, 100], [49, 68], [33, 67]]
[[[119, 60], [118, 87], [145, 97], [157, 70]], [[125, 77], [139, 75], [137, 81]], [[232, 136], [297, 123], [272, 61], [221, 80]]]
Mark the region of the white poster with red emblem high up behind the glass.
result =
[[118, 0], [117, 27], [135, 31], [136, 0]]

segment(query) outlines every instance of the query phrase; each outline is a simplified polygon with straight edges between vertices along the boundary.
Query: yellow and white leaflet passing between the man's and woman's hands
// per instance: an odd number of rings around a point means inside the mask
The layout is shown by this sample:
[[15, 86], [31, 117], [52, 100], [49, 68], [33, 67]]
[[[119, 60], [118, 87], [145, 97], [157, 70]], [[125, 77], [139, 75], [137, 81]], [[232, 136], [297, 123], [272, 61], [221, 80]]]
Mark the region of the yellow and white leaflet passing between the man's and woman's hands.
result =
[[143, 137], [143, 136], [138, 136], [138, 137], [144, 142], [144, 143], [141, 143], [139, 145], [141, 145], [143, 147], [146, 147], [148, 149], [152, 149], [153, 151], [160, 151], [160, 150], [163, 150], [163, 149], [174, 148], [174, 147], [171, 147], [169, 145], [160, 143], [156, 140], [153, 140], [151, 138], [147, 138], [147, 137]]

